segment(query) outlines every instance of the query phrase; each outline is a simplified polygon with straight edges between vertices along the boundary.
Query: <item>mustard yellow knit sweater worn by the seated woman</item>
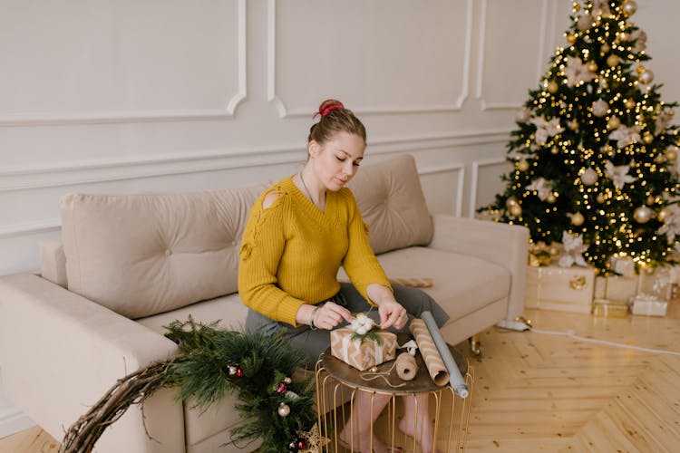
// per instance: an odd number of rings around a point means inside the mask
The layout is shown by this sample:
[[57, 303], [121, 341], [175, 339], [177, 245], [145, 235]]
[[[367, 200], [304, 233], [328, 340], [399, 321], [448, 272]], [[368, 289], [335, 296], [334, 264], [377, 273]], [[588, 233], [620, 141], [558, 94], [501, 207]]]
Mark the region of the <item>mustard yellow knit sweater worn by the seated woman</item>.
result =
[[[272, 192], [277, 200], [263, 208]], [[297, 326], [302, 304], [327, 300], [340, 289], [340, 265], [366, 299], [368, 284], [390, 286], [349, 188], [326, 191], [325, 211], [296, 188], [292, 177], [257, 198], [240, 249], [238, 293], [244, 304]]]

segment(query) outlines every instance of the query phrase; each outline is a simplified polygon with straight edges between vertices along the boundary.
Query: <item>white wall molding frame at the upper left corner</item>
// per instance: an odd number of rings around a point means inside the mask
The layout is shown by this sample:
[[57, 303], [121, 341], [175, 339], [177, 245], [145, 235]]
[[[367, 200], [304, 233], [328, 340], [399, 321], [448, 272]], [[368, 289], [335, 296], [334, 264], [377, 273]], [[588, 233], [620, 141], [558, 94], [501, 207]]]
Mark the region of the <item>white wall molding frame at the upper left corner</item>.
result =
[[0, 127], [61, 126], [181, 120], [229, 120], [234, 118], [241, 101], [247, 96], [247, 0], [237, 1], [238, 81], [237, 92], [225, 102], [224, 109], [178, 109], [141, 111], [80, 111], [77, 113], [32, 112], [0, 115]]

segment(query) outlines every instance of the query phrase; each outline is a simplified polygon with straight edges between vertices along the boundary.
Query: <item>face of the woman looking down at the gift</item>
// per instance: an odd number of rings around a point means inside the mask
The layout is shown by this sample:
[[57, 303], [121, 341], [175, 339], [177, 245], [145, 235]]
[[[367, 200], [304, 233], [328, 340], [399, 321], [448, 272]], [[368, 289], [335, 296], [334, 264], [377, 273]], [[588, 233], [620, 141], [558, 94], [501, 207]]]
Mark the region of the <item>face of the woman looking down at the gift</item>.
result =
[[364, 159], [364, 139], [348, 132], [338, 132], [322, 145], [316, 140], [308, 143], [316, 178], [328, 190], [343, 188], [354, 178], [359, 164]]

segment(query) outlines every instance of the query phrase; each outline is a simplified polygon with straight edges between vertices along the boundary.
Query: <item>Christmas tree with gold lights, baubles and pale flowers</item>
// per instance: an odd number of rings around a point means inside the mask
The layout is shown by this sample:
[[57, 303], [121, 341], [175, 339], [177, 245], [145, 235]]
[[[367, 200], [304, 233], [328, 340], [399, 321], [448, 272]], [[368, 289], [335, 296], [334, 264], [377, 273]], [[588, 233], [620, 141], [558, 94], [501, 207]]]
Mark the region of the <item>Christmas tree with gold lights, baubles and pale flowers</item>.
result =
[[680, 235], [675, 160], [677, 103], [660, 99], [647, 69], [646, 34], [630, 21], [633, 0], [573, 4], [567, 45], [518, 112], [491, 206], [527, 226], [533, 250], [559, 244], [560, 265], [618, 274], [668, 264]]

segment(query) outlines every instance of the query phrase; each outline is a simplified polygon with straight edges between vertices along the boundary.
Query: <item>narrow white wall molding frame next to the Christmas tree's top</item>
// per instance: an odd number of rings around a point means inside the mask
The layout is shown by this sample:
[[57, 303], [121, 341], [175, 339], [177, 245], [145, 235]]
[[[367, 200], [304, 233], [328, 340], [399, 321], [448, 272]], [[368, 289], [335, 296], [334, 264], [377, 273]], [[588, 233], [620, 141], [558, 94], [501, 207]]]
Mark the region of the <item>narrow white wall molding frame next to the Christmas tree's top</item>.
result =
[[[547, 29], [548, 29], [548, 3], [549, 1], [555, 2], [555, 0], [542, 0], [541, 2], [541, 9], [540, 9], [540, 24], [539, 24], [539, 55], [537, 57], [537, 73], [538, 73], [538, 78], [537, 81], [540, 80], [543, 72], [544, 72], [544, 62], [543, 58], [544, 55], [543, 53], [545, 52], [546, 48], [546, 37], [547, 37]], [[485, 48], [485, 43], [486, 43], [486, 25], [487, 25], [487, 7], [489, 4], [489, 0], [481, 0], [481, 8], [480, 8], [480, 35], [478, 37], [479, 41], [479, 46], [481, 49], [480, 52], [480, 58], [477, 62], [477, 98], [480, 100], [480, 108], [481, 111], [492, 111], [492, 110], [517, 110], [520, 109], [522, 106], [522, 102], [516, 103], [516, 102], [494, 102], [494, 101], [487, 101], [484, 98], [484, 90], [483, 90], [483, 82], [484, 82], [484, 61], [486, 58], [486, 48]], [[553, 14], [554, 16], [555, 14]], [[554, 26], [554, 24], [553, 24]]]

